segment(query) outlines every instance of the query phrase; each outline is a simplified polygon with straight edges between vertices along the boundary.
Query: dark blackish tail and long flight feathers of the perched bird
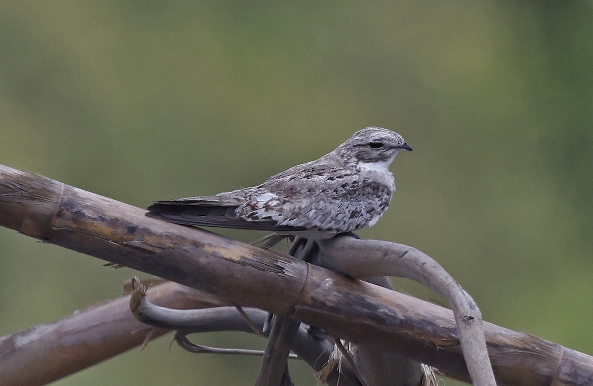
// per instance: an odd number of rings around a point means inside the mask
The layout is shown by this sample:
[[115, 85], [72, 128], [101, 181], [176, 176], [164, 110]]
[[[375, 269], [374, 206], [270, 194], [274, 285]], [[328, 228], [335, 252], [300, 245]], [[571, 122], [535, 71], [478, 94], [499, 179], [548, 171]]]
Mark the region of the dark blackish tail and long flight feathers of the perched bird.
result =
[[246, 220], [235, 215], [235, 210], [244, 204], [238, 198], [227, 195], [187, 197], [178, 200], [155, 201], [146, 215], [170, 223], [236, 229], [254, 229], [279, 232], [304, 230], [304, 227], [280, 226], [274, 220]]

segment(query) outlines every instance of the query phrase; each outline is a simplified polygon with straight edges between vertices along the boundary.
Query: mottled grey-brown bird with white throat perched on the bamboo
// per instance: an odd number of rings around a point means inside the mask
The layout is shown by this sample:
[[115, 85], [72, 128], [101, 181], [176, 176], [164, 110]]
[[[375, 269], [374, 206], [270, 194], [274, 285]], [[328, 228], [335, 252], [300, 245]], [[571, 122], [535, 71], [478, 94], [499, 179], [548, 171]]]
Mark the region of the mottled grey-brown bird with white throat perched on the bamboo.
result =
[[332, 152], [271, 176], [261, 185], [212, 196], [154, 201], [148, 217], [186, 226], [273, 231], [311, 240], [374, 226], [396, 189], [389, 166], [400, 134], [356, 131]]

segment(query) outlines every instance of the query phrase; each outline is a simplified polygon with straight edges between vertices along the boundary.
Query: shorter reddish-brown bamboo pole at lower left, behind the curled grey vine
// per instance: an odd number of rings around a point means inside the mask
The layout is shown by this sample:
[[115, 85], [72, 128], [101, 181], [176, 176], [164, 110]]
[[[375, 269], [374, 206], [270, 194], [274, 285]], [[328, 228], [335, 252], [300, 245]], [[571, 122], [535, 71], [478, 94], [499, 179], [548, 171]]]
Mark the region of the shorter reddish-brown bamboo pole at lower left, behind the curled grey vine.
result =
[[[187, 292], [187, 287], [168, 282], [152, 288], [150, 297], [167, 307], [203, 307], [202, 302], [187, 297]], [[142, 345], [154, 327], [133, 318], [129, 298], [93, 305], [59, 321], [0, 337], [2, 385], [44, 385]], [[168, 331], [156, 329], [153, 336]]]

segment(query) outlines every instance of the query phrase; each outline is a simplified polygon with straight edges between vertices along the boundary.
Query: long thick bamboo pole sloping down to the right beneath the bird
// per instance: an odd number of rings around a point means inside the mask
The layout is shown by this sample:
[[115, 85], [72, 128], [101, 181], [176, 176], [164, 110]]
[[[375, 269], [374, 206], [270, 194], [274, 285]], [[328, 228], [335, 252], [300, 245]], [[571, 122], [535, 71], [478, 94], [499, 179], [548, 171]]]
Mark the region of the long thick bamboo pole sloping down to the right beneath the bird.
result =
[[[0, 166], [0, 225], [189, 285], [217, 299], [320, 326], [468, 381], [449, 310], [31, 173]], [[367, 255], [367, 253], [365, 253]], [[273, 288], [274, 296], [269, 296]], [[593, 384], [593, 358], [484, 323], [500, 384]], [[0, 377], [2, 374], [0, 372]]]

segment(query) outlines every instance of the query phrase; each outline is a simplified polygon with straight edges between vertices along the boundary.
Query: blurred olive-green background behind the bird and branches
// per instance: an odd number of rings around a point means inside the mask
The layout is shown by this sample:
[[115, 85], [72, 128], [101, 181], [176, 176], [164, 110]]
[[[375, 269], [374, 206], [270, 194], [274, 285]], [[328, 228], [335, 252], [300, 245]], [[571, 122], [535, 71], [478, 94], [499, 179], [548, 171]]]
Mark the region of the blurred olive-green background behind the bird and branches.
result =
[[[361, 236], [436, 258], [484, 319], [593, 354], [592, 7], [4, 1], [0, 163], [146, 207], [259, 184], [359, 128], [390, 128], [414, 152], [394, 162], [391, 208]], [[102, 264], [0, 229], [0, 335], [119, 296], [135, 272]], [[264, 345], [245, 339], [198, 337]], [[55, 384], [256, 378], [259, 359], [169, 343]]]

